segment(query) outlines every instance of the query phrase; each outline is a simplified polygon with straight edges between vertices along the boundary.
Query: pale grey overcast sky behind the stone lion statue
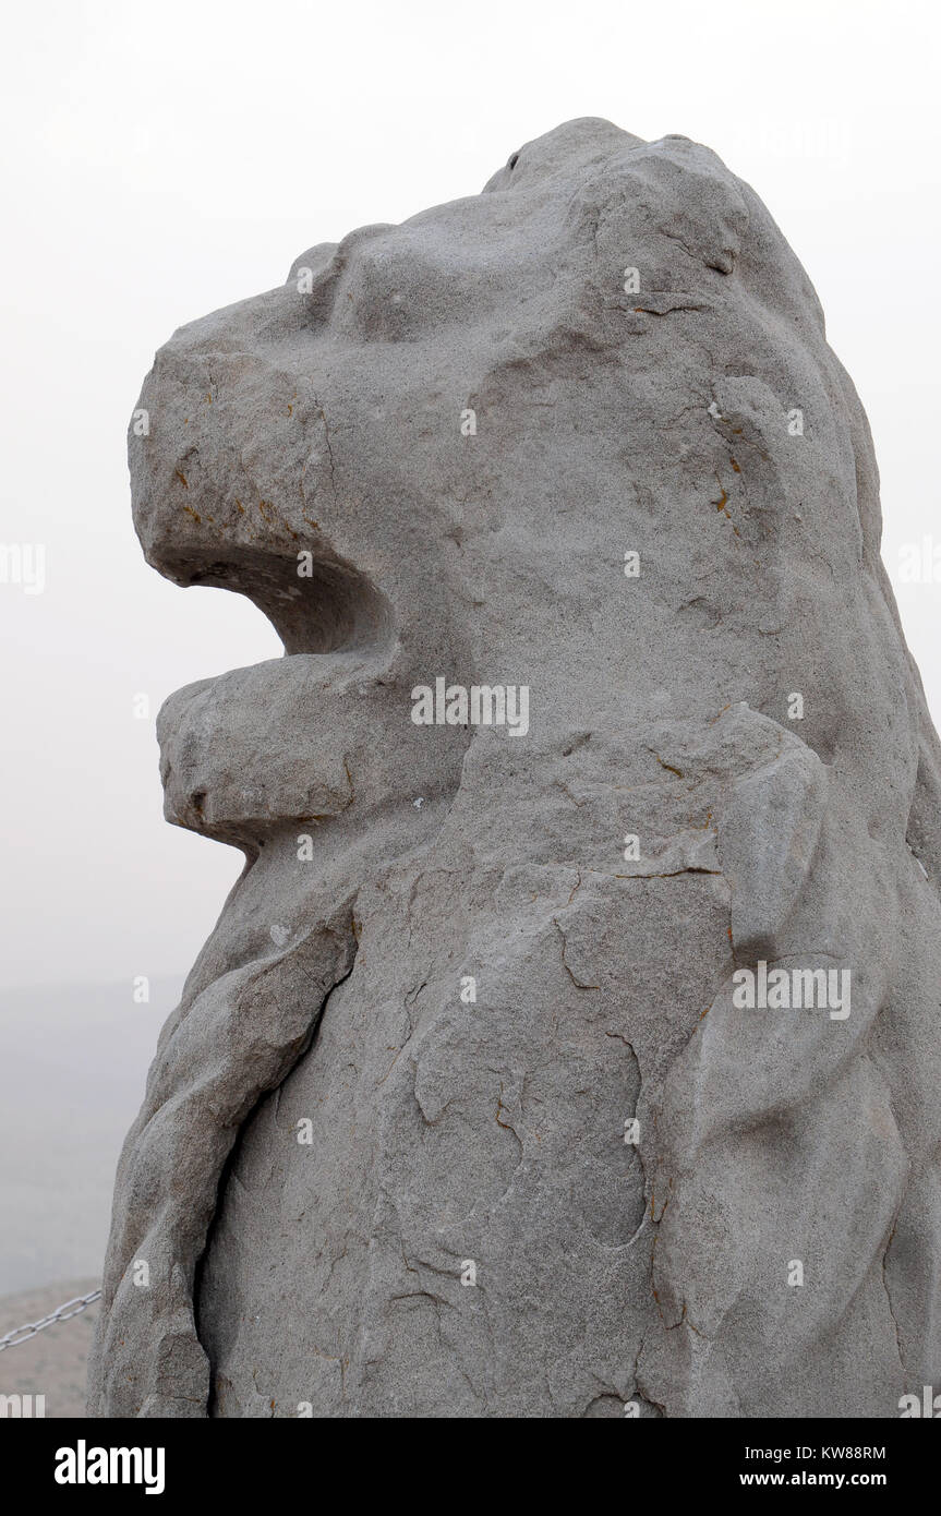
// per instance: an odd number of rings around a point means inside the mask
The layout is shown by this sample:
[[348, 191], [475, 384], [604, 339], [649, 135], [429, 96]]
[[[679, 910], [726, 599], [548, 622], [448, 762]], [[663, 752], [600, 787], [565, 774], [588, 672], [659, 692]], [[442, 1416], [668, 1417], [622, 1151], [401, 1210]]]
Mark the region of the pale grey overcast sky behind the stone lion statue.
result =
[[[935, 720], [938, 6], [932, 0], [45, 0], [5, 20], [0, 585], [8, 985], [185, 970], [241, 855], [168, 828], [153, 714], [280, 652], [259, 611], [144, 564], [124, 429], [183, 321], [370, 221], [480, 190], [576, 115], [714, 147], [777, 218], [868, 411], [883, 556]], [[132, 697], [150, 696], [152, 720]]]

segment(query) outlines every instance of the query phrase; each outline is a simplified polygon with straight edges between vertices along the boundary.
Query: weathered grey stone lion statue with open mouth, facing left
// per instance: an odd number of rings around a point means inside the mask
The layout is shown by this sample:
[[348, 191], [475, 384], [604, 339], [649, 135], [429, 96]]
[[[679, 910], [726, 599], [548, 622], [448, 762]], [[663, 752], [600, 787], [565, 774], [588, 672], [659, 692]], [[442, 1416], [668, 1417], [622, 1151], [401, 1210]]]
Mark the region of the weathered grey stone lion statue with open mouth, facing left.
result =
[[[571, 121], [182, 327], [139, 405], [147, 559], [286, 656], [161, 713], [167, 817], [245, 870], [121, 1157], [92, 1410], [941, 1386], [938, 740], [753, 191]], [[438, 678], [529, 729], [415, 725]], [[739, 1007], [762, 961], [852, 1013]]]

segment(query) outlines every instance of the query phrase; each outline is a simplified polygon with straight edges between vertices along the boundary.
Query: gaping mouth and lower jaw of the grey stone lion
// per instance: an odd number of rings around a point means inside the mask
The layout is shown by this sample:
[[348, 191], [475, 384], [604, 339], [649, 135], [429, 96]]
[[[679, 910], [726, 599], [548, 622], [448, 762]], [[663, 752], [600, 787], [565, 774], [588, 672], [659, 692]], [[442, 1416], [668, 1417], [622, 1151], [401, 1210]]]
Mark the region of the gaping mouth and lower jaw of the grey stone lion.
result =
[[253, 852], [286, 822], [339, 816], [355, 793], [355, 734], [376, 740], [370, 691], [397, 646], [386, 597], [353, 564], [309, 550], [188, 547], [161, 568], [180, 585], [244, 594], [285, 649], [164, 703], [167, 820]]

